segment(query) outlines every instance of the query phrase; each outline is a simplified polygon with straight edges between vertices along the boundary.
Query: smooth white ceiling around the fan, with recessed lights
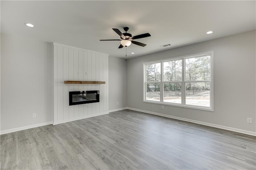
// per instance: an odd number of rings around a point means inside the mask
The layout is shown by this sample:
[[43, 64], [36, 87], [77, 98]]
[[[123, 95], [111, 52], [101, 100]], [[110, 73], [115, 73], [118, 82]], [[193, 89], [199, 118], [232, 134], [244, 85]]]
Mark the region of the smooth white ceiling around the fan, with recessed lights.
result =
[[[125, 58], [112, 28], [151, 37], [130, 45], [138, 57], [256, 29], [255, 1], [1, 1], [1, 33], [57, 42]], [[24, 23], [32, 23], [28, 28]], [[214, 30], [207, 35], [208, 30]], [[159, 47], [170, 43], [170, 47]], [[135, 54], [131, 54], [134, 52]]]

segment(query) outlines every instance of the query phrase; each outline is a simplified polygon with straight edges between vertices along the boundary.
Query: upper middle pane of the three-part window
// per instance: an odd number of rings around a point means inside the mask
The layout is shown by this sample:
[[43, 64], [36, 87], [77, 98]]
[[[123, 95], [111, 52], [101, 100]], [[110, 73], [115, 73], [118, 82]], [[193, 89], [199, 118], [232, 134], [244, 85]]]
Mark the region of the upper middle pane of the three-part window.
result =
[[182, 60], [164, 62], [164, 81], [182, 81]]

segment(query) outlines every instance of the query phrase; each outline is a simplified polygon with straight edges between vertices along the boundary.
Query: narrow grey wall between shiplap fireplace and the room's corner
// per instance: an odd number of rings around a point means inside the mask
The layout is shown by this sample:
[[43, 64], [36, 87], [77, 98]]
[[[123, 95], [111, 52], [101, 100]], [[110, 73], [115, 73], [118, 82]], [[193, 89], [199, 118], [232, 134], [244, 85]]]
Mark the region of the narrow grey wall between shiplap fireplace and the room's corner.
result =
[[[118, 57], [108, 58], [109, 80], [109, 111], [116, 111], [127, 107], [126, 103], [126, 63], [125, 59]], [[117, 105], [118, 102], [118, 105]]]

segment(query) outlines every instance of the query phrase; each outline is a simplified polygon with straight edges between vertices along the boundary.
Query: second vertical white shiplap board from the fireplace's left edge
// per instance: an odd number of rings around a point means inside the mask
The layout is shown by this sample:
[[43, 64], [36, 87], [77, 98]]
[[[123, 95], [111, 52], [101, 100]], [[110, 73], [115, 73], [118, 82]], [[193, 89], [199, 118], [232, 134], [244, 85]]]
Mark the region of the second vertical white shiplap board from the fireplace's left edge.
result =
[[[79, 79], [78, 72], [79, 72], [79, 56], [78, 56], [78, 50], [75, 49], [74, 50], [74, 80]], [[79, 91], [78, 84], [74, 85], [74, 91]], [[79, 106], [74, 105], [74, 118], [78, 118], [78, 117], [79, 117]]]

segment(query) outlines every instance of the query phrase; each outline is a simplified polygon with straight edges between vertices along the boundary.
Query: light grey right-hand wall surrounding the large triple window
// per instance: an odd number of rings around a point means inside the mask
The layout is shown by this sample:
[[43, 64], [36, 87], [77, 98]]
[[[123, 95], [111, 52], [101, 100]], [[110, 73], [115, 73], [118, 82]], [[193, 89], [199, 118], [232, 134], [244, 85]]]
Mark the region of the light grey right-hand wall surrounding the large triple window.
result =
[[[237, 128], [256, 134], [256, 32], [246, 32], [128, 59], [127, 106], [134, 109]], [[214, 51], [214, 112], [144, 103], [146, 61]], [[252, 124], [247, 123], [252, 118]]]

